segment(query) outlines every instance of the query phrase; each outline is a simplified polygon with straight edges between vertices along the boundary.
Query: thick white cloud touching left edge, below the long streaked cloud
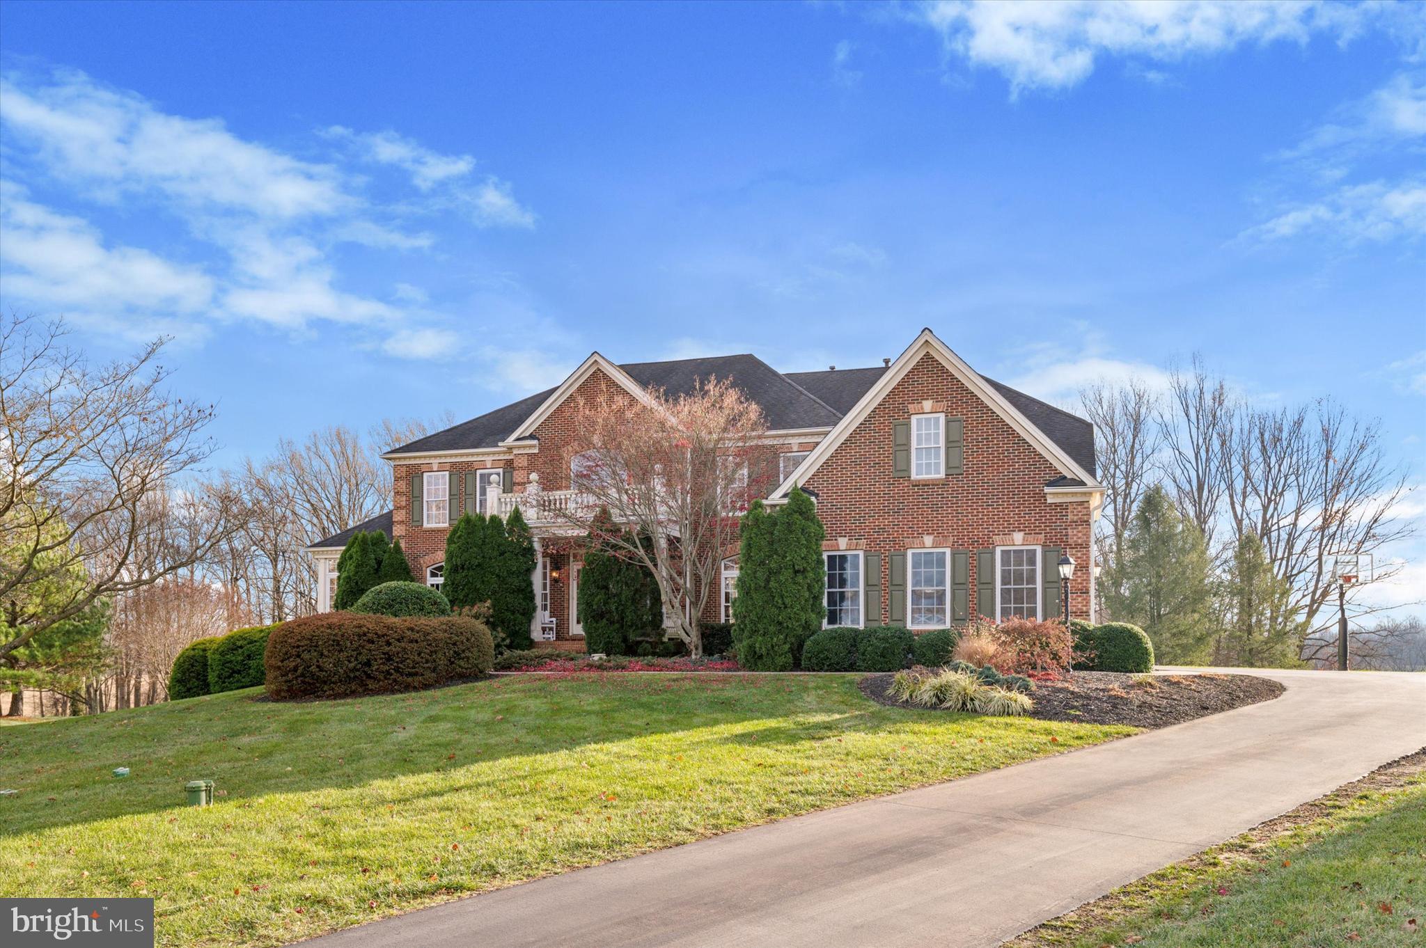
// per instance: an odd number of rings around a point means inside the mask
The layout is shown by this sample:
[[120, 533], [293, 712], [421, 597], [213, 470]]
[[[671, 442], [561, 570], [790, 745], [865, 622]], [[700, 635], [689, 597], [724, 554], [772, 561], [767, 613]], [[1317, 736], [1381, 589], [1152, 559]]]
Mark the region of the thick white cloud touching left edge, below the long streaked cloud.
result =
[[0, 182], [0, 284], [9, 301], [46, 301], [58, 309], [135, 309], [193, 314], [207, 308], [214, 282], [197, 267], [137, 247], [106, 245], [87, 221], [27, 200]]

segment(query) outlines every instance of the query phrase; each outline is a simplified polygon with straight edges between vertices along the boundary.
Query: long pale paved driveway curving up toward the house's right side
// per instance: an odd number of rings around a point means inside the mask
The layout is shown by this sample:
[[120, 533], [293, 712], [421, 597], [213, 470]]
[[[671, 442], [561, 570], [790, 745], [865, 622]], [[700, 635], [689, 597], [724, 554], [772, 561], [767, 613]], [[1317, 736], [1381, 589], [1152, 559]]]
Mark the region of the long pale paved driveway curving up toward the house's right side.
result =
[[1426, 674], [1261, 674], [1286, 694], [309, 944], [995, 945], [1426, 746]]

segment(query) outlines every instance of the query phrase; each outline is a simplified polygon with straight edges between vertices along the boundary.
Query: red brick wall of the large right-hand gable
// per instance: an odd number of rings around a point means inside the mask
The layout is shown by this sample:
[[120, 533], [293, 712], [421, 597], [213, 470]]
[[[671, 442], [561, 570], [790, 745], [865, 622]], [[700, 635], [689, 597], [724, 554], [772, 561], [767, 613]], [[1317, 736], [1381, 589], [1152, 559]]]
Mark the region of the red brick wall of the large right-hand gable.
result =
[[[911, 416], [911, 405], [937, 402], [931, 411], [965, 419], [965, 473], [934, 480], [891, 476], [891, 425]], [[887, 570], [893, 550], [920, 546], [973, 550], [973, 614], [991, 614], [977, 603], [974, 550], [1010, 545], [1022, 532], [1027, 545], [1064, 547], [1078, 569], [1070, 587], [1071, 617], [1089, 617], [1089, 505], [1050, 503], [1045, 482], [1060, 476], [1028, 440], [960, 382], [938, 359], [924, 355], [871, 413], [809, 479], [829, 547], [837, 537], [848, 549], [880, 552], [881, 603], [868, 603], [867, 622], [886, 622]], [[924, 542], [924, 535], [931, 542]]]

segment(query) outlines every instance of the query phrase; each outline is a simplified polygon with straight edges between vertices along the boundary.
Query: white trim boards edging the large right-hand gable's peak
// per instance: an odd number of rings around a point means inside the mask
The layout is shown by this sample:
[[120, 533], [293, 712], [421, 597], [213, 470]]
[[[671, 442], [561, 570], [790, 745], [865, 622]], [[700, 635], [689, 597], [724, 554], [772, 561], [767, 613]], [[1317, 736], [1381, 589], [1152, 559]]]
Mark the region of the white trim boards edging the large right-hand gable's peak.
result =
[[[831, 453], [847, 439], [847, 436], [857, 429], [857, 426], [867, 419], [877, 405], [891, 392], [896, 385], [907, 376], [907, 373], [915, 368], [921, 356], [931, 355], [938, 361], [945, 369], [954, 375], [961, 385], [974, 392], [983, 402], [990, 405], [997, 415], [1000, 415], [1015, 432], [1024, 438], [1031, 446], [1035, 448], [1041, 455], [1050, 460], [1060, 473], [1067, 478], [1075, 478], [1085, 483], [1079, 490], [1098, 490], [1102, 489], [1099, 482], [1084, 468], [1075, 463], [1060, 445], [1050, 440], [1044, 432], [1041, 432], [1035, 425], [1025, 418], [1020, 409], [1005, 401], [1000, 392], [995, 391], [985, 379], [980, 376], [970, 365], [965, 364], [961, 356], [955, 355], [944, 342], [941, 342], [934, 332], [930, 329], [921, 329], [921, 334], [906, 348], [906, 351], [897, 356], [896, 362], [891, 364], [881, 378], [877, 379], [876, 385], [867, 389], [866, 395], [851, 406], [837, 426], [831, 429], [821, 443], [819, 443], [807, 458], [803, 459], [797, 469], [793, 470], [777, 489], [770, 495], [770, 500], [781, 500], [787, 496], [787, 492], [793, 489], [793, 485], [807, 483], [807, 479], [817, 472], [819, 468], [831, 456]], [[888, 448], [890, 450], [890, 448]]]

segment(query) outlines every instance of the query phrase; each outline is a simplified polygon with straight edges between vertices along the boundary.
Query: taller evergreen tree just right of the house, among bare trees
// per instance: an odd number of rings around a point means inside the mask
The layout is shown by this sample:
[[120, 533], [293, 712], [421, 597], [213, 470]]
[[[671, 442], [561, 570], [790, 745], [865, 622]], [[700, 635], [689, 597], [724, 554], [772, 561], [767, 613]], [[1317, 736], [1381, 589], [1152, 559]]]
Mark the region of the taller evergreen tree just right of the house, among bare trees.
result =
[[1208, 657], [1214, 637], [1208, 550], [1198, 526], [1164, 488], [1155, 485], [1139, 500], [1122, 553], [1101, 583], [1109, 616], [1144, 629], [1159, 661], [1195, 664]]

